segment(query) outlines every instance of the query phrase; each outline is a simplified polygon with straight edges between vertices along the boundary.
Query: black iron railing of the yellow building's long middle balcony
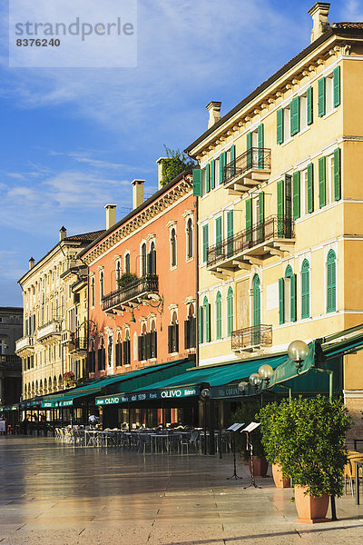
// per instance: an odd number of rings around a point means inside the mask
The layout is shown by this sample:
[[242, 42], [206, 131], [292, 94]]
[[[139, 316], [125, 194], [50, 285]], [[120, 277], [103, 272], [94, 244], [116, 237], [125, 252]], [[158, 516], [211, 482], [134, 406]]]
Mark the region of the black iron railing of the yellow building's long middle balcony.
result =
[[230, 236], [221, 243], [214, 244], [208, 248], [207, 266], [211, 267], [217, 263], [243, 253], [249, 253], [251, 248], [261, 243], [278, 239], [293, 239], [294, 221], [286, 216], [270, 216], [264, 222], [252, 225], [250, 229], [240, 231]]

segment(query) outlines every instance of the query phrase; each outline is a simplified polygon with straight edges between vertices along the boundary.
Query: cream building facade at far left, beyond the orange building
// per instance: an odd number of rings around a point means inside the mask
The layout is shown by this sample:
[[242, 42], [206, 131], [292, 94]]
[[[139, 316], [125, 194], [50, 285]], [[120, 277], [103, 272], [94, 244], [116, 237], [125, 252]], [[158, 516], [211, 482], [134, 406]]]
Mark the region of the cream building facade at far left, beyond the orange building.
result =
[[67, 237], [63, 227], [59, 242], [38, 263], [31, 258], [29, 271], [19, 280], [23, 290], [24, 330], [15, 352], [23, 361], [24, 400], [74, 386], [67, 382], [66, 375], [72, 371], [70, 347], [68, 342], [62, 342], [69, 331], [64, 272], [77, 263], [77, 253], [101, 233]]

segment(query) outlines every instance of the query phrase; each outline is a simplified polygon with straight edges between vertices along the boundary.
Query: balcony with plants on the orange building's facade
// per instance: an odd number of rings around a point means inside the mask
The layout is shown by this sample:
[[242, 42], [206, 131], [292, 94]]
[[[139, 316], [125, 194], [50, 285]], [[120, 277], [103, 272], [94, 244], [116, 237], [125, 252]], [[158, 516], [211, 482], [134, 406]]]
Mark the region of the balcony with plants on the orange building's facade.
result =
[[115, 292], [103, 297], [103, 311], [124, 311], [132, 309], [145, 299], [159, 294], [159, 277], [156, 274], [148, 274], [137, 281], [123, 286]]

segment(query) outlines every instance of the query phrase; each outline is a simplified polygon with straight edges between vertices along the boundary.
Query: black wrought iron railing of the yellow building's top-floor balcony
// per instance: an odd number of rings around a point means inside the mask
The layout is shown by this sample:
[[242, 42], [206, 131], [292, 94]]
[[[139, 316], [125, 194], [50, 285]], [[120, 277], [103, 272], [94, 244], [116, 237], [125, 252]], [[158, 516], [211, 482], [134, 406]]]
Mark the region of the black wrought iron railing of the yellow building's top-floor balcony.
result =
[[239, 155], [231, 163], [224, 167], [223, 183], [229, 184], [235, 178], [243, 176], [250, 170], [270, 171], [271, 150], [270, 148], [252, 147], [244, 154]]

